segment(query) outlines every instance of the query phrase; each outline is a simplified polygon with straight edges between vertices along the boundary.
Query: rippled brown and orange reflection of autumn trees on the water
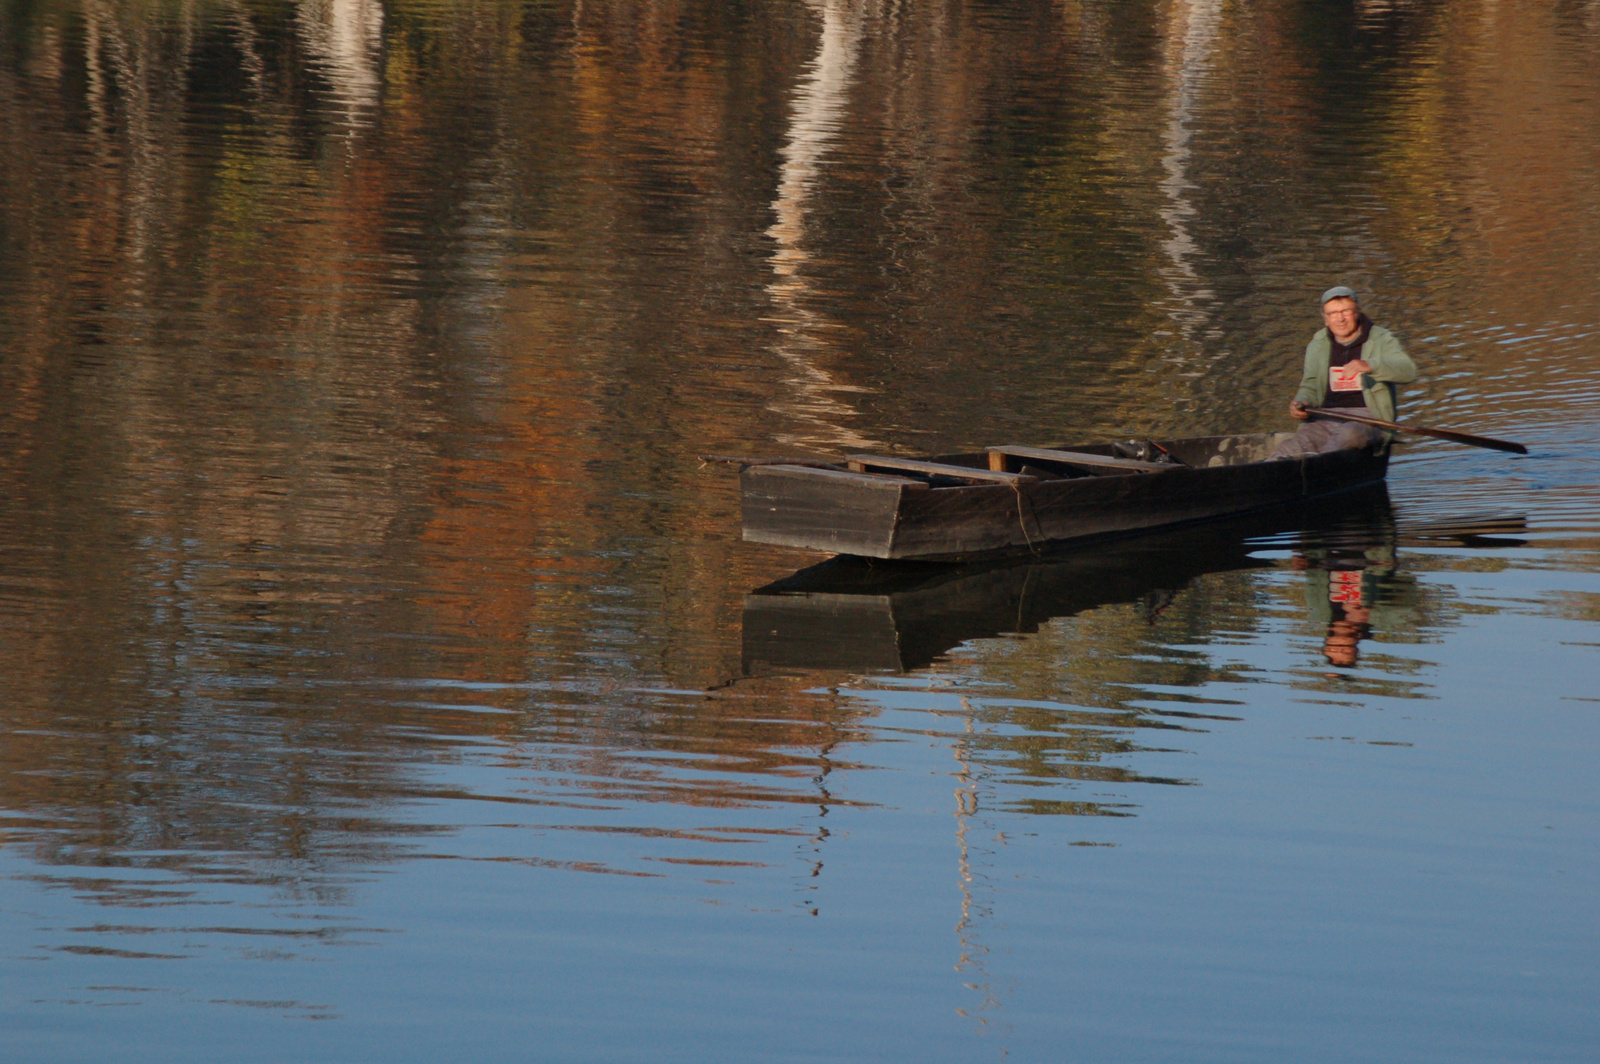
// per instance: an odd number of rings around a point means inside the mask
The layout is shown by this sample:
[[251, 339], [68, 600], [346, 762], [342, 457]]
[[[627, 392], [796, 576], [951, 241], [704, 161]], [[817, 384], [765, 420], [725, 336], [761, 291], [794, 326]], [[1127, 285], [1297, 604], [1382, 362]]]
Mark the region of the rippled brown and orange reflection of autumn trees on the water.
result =
[[[1541, 282], [1600, 272], [1600, 213], [1563, 210], [1600, 165], [1584, 18], [8, 5], [0, 795], [67, 850], [304, 861], [426, 792], [410, 744], [558, 750], [590, 798], [826, 802], [870, 706], [741, 675], [742, 594], [802, 560], [741, 547], [693, 456], [1261, 427], [1352, 234], [1435, 378], [1555, 395], [1560, 357], [1430, 347], [1459, 323], [1413, 278], [1493, 259], [1542, 322]], [[1213, 590], [1182, 643], [1270, 613]], [[979, 654], [1112, 714], [995, 765], [1125, 781], [1128, 688], [1216, 677], [1130, 664], [1122, 621]]]

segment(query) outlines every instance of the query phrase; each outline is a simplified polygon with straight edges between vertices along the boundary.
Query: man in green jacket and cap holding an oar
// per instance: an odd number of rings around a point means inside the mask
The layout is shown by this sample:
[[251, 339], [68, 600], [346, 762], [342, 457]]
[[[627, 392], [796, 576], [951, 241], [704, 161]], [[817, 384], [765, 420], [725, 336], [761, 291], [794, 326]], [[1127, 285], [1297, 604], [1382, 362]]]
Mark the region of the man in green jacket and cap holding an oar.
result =
[[1322, 293], [1322, 320], [1326, 328], [1317, 330], [1306, 344], [1306, 373], [1290, 402], [1290, 418], [1304, 424], [1269, 458], [1304, 458], [1386, 443], [1389, 437], [1371, 426], [1314, 419], [1310, 411], [1349, 410], [1394, 421], [1395, 384], [1416, 379], [1416, 365], [1400, 341], [1362, 314], [1352, 290], [1338, 285]]

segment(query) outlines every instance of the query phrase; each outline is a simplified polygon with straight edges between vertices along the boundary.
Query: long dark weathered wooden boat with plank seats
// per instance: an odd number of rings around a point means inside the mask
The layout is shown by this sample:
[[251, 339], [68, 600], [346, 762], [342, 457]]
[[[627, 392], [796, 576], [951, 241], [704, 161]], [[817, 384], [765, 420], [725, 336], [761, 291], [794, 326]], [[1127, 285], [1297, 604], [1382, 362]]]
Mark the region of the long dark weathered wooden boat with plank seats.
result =
[[867, 558], [962, 560], [1266, 510], [1387, 472], [1379, 448], [1266, 461], [1285, 435], [750, 461], [739, 474], [744, 538]]

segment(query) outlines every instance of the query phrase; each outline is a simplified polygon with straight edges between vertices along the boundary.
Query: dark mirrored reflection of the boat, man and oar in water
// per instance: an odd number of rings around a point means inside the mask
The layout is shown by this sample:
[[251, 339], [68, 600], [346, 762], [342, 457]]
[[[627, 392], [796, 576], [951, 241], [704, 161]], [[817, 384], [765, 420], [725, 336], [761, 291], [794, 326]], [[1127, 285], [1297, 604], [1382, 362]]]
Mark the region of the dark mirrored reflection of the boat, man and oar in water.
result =
[[1307, 573], [1307, 603], [1328, 624], [1328, 661], [1354, 666], [1403, 542], [1514, 546], [1520, 541], [1504, 536], [1523, 526], [1518, 517], [1397, 525], [1387, 488], [1374, 485], [1314, 506], [1010, 562], [837, 557], [746, 595], [742, 669], [910, 672], [968, 640], [1037, 632], [1112, 603], [1141, 603], [1154, 622], [1198, 578], [1277, 568], [1267, 555], [1283, 549]]

